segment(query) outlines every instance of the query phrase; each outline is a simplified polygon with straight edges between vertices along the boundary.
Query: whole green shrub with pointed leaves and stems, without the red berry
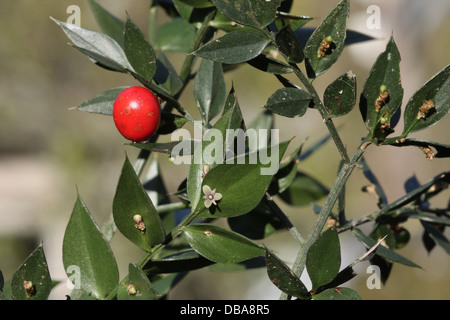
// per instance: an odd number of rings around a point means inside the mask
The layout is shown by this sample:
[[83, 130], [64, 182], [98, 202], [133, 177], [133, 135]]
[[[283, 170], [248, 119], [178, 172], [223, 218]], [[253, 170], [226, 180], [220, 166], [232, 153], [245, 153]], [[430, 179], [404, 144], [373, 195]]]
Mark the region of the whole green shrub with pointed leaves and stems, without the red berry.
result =
[[[174, 0], [162, 6], [162, 2], [152, 1], [149, 41], [130, 17], [126, 22], [121, 21], [95, 1], [90, 4], [103, 33], [54, 19], [73, 46], [96, 65], [133, 77], [165, 101], [156, 134], [148, 141], [129, 144], [139, 148], [140, 154], [134, 165], [125, 158], [111, 219], [100, 228], [81, 197], [77, 197], [63, 243], [66, 270], [76, 266], [81, 277], [72, 299], [160, 299], [182, 278], [180, 275], [223, 263], [266, 268], [270, 280], [283, 292], [282, 299], [359, 299], [356, 291], [342, 287], [355, 276], [356, 263], [371, 260], [379, 265], [383, 281], [393, 263], [418, 267], [395, 251], [409, 240], [408, 231], [400, 225], [408, 219], [418, 219], [424, 226], [427, 250], [438, 244], [449, 252], [449, 243], [443, 236], [450, 223], [449, 208], [433, 208], [429, 201], [445, 190], [450, 172], [439, 174], [425, 184], [410, 181], [407, 193], [388, 203], [381, 184], [363, 157], [367, 148], [382, 146], [418, 147], [428, 158], [450, 156], [449, 145], [409, 137], [448, 114], [449, 66], [411, 97], [402, 116], [404, 130], [392, 137], [400, 115], [403, 88], [400, 54], [394, 38], [389, 39], [359, 97], [367, 135], [353, 154], [349, 154], [333, 119], [353, 110], [357, 101], [355, 75], [349, 71], [332, 81], [323, 99], [313, 85], [344, 50], [349, 1], [341, 1], [331, 11], [305, 46], [298, 41], [296, 32], [312, 18], [290, 13], [291, 3]], [[157, 29], [154, 21], [158, 10], [166, 10], [172, 19]], [[212, 31], [216, 30], [221, 33], [213, 37]], [[166, 56], [170, 51], [188, 53], [179, 72]], [[197, 69], [195, 60], [200, 61]], [[283, 85], [270, 96], [264, 106], [266, 110], [250, 125], [243, 119], [234, 89], [227, 91], [224, 81], [224, 72], [245, 67], [245, 64], [273, 74]], [[305, 72], [300, 64], [304, 64]], [[287, 74], [293, 80], [289, 80]], [[201, 115], [199, 121], [179, 102], [192, 80]], [[123, 87], [108, 90], [85, 101], [78, 109], [112, 115], [113, 103], [123, 90]], [[259, 140], [255, 143], [248, 135], [244, 148], [239, 149], [239, 144], [234, 144], [238, 136], [229, 135], [231, 131], [270, 130], [274, 115], [293, 118], [306, 112], [318, 112], [329, 131], [329, 137], [306, 151], [300, 144], [285, 155], [292, 140], [274, 142], [270, 141], [271, 135], [262, 139], [263, 144]], [[176, 132], [187, 122], [203, 136], [213, 132], [225, 138], [219, 148], [211, 139], [182, 142], [186, 147], [182, 149], [183, 154], [197, 161], [190, 164], [187, 177], [180, 181], [179, 202], [169, 202], [157, 166], [150, 169], [152, 177], [156, 177], [151, 183], [142, 181], [143, 170], [151, 161], [152, 153], [173, 155], [175, 149], [180, 150], [179, 141], [167, 143], [157, 142], [157, 139]], [[333, 141], [341, 156], [341, 165], [330, 189], [298, 167], [302, 159], [327, 139]], [[211, 150], [214, 152], [206, 152]], [[228, 159], [233, 161], [217, 160], [218, 153], [230, 152]], [[196, 154], [207, 157], [197, 159]], [[278, 170], [273, 174], [262, 174], [262, 170], [268, 168], [268, 163], [257, 157], [262, 154], [275, 154]], [[251, 162], [252, 159], [256, 161]], [[171, 161], [176, 165], [177, 159], [171, 158]], [[345, 215], [345, 190], [355, 168], [362, 169], [372, 183], [379, 199], [378, 210], [349, 220]], [[158, 194], [156, 200], [150, 200], [146, 188]], [[311, 204], [325, 197], [320, 208], [314, 207], [317, 220], [307, 236], [301, 235], [290, 222], [274, 200], [275, 196], [292, 206]], [[184, 214], [186, 209], [188, 213]], [[230, 228], [214, 223], [224, 219]], [[374, 222], [369, 235], [358, 228], [367, 222]], [[287, 229], [298, 242], [298, 255], [292, 267], [258, 242], [280, 229]], [[346, 231], [351, 231], [368, 251], [341, 269], [339, 234]], [[119, 279], [116, 260], [109, 247], [116, 232], [144, 251], [139, 261], [130, 263], [129, 273], [123, 279]], [[248, 261], [254, 263], [246, 264]], [[299, 278], [305, 268], [312, 283], [310, 289]], [[11, 297], [46, 299], [51, 288], [45, 255], [39, 246], [14, 275]], [[3, 281], [0, 289], [3, 289]], [[8, 298], [1, 291], [0, 294], [1, 298]]]

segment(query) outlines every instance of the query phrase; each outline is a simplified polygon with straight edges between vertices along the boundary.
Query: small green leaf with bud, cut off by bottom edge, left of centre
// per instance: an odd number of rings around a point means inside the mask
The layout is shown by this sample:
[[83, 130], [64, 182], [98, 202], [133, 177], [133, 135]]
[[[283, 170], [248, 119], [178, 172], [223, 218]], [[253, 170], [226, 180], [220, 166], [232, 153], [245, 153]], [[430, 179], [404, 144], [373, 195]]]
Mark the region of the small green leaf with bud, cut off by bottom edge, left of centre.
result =
[[119, 285], [118, 300], [155, 300], [159, 294], [153, 289], [147, 275], [137, 265], [128, 265], [128, 277]]

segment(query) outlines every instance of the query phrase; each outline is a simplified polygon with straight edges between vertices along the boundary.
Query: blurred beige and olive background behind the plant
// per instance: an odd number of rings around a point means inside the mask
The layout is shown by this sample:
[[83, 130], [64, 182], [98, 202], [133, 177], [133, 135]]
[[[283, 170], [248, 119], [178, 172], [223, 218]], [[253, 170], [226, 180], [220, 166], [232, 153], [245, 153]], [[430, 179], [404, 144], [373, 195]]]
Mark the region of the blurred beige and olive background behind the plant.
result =
[[[126, 17], [126, 10], [142, 30], [147, 30], [148, 1], [98, 2], [122, 19]], [[316, 27], [337, 3], [337, 0], [294, 1], [292, 12], [316, 17], [306, 25]], [[42, 241], [52, 278], [62, 280], [51, 299], [64, 299], [68, 292], [61, 258], [62, 239], [77, 188], [101, 225], [111, 212], [124, 153], [131, 159], [137, 155], [137, 150], [123, 145], [126, 141], [115, 130], [111, 117], [68, 110], [107, 89], [138, 85], [124, 74], [96, 67], [67, 45], [68, 38], [50, 16], [66, 21], [70, 5], [80, 7], [82, 27], [99, 30], [87, 1], [0, 2], [0, 269], [9, 281]], [[367, 13], [370, 5], [381, 9], [380, 29], [370, 29], [366, 24], [372, 14]], [[352, 70], [357, 77], [359, 96], [368, 71], [393, 34], [402, 56], [404, 107], [411, 95], [449, 62], [449, 13], [447, 0], [351, 1], [348, 28], [375, 40], [348, 46], [329, 72], [314, 82], [318, 92], [322, 94], [331, 81]], [[161, 11], [157, 23], [165, 19]], [[180, 54], [169, 57], [176, 67], [183, 60]], [[233, 81], [247, 123], [262, 111], [267, 98], [280, 86], [273, 76], [249, 66], [227, 73], [226, 79], [228, 88]], [[198, 116], [192, 87], [185, 91], [181, 102]], [[358, 108], [336, 119], [336, 124], [352, 153], [366, 134]], [[447, 117], [414, 137], [450, 144], [449, 125]], [[319, 114], [313, 110], [302, 118], [277, 117], [275, 126], [282, 129], [280, 140], [296, 137], [292, 147], [305, 140], [305, 147], [308, 147], [327, 134]], [[401, 130], [402, 123], [399, 123], [396, 131]], [[161, 159], [166, 187], [173, 192], [186, 168], [169, 167], [165, 158]], [[415, 148], [371, 147], [366, 160], [381, 181], [389, 201], [404, 194], [403, 184], [407, 178], [415, 175], [424, 183], [450, 168], [448, 159], [428, 161]], [[327, 143], [305, 160], [301, 169], [331, 186], [338, 161], [336, 148]], [[349, 218], [376, 209], [376, 199], [361, 192], [366, 184], [367, 180], [356, 170], [347, 189]], [[448, 201], [447, 191], [437, 197], [433, 205], [446, 207]], [[290, 208], [281, 200], [277, 202], [306, 235], [315, 221], [312, 206]], [[369, 227], [362, 229], [368, 231]], [[369, 290], [366, 286], [368, 263], [365, 262], [357, 267], [359, 275], [346, 285], [357, 290], [364, 299], [449, 299], [449, 256], [438, 246], [427, 253], [421, 244], [422, 227], [418, 221], [408, 222], [405, 227], [411, 232], [411, 241], [399, 253], [423, 269], [395, 264], [387, 284], [379, 290]], [[345, 267], [365, 249], [349, 233], [340, 238], [342, 267]], [[287, 232], [278, 232], [263, 242], [286, 263], [294, 262], [298, 248]], [[113, 238], [111, 246], [123, 277], [128, 263], [137, 261], [142, 252], [119, 234]], [[308, 283], [306, 278], [304, 280]], [[278, 299], [279, 295], [280, 291], [268, 280], [263, 269], [234, 273], [199, 270], [189, 274], [169, 297]]]

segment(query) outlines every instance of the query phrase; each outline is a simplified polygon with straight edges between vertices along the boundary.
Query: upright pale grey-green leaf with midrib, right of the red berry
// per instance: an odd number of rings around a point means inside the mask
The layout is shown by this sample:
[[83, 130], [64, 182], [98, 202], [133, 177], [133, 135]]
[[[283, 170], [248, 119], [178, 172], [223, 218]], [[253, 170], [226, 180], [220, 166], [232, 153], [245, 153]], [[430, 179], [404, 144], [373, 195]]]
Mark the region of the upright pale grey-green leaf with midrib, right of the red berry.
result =
[[208, 125], [220, 113], [227, 98], [221, 63], [202, 60], [194, 79], [194, 97], [205, 125]]

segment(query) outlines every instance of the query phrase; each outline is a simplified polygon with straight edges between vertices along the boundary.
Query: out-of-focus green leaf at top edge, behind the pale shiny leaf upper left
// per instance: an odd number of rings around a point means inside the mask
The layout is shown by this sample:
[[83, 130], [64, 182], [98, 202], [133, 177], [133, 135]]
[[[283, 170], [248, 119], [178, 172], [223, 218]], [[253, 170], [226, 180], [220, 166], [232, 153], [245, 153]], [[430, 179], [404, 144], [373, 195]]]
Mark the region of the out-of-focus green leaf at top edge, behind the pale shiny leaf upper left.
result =
[[102, 31], [122, 46], [125, 22], [112, 15], [94, 0], [89, 0], [89, 5]]

